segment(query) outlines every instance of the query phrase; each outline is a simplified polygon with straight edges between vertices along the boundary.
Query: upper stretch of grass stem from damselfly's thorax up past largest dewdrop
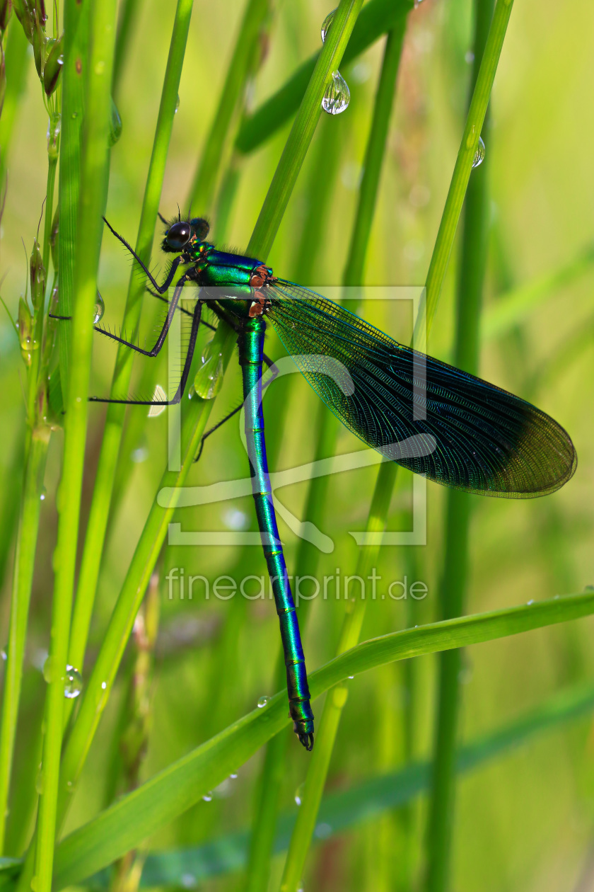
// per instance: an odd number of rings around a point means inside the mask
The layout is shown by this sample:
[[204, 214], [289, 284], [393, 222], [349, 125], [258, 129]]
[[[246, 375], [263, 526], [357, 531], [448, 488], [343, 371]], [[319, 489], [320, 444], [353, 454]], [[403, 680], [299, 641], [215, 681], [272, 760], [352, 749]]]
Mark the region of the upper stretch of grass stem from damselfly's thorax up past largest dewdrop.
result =
[[[281, 225], [282, 216], [321, 115], [320, 96], [330, 85], [332, 72], [336, 71], [340, 64], [361, 7], [362, 0], [340, 0], [338, 4], [328, 37], [305, 91], [299, 114], [290, 130], [281, 160], [274, 171], [273, 182], [249, 240], [247, 251], [249, 256], [266, 258], [273, 246], [274, 236]], [[297, 158], [300, 159], [298, 164], [295, 163]]]

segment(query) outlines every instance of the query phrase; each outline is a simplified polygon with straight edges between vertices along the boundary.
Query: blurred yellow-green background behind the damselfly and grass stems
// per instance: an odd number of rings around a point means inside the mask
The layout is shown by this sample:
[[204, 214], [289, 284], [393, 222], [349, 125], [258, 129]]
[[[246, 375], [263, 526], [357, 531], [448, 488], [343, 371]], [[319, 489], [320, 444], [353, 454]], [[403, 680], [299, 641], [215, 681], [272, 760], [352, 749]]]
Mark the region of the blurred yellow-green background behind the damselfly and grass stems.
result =
[[[471, 44], [469, 0], [424, 0], [411, 13], [388, 138], [378, 208], [365, 282], [368, 285], [422, 285], [427, 273], [443, 202], [452, 175], [467, 103], [468, 48]], [[284, 0], [278, 4], [270, 45], [248, 103], [257, 106], [281, 87], [297, 64], [320, 45], [320, 25], [330, 12], [318, 0]], [[144, 0], [126, 61], [118, 108], [123, 132], [111, 153], [110, 223], [130, 241], [138, 226], [142, 191], [151, 153], [159, 95], [167, 60], [174, 5]], [[171, 216], [177, 202], [185, 210], [240, 17], [239, 0], [211, 4], [195, 0], [191, 33], [180, 87], [161, 212]], [[492, 127], [486, 145], [492, 189], [492, 236], [484, 317], [500, 298], [516, 288], [564, 268], [593, 243], [594, 174], [590, 114], [594, 82], [594, 7], [574, 0], [571, 7], [552, 0], [517, 0], [504, 45], [492, 100]], [[340, 285], [361, 176], [362, 155], [381, 61], [382, 41], [354, 64], [341, 69], [351, 89], [345, 114], [321, 120], [268, 262], [283, 277], [322, 289]], [[25, 288], [25, 256], [30, 250], [45, 194], [46, 115], [32, 56], [28, 86], [17, 112], [7, 159], [8, 181], [2, 219], [0, 261], [2, 293], [13, 313]], [[217, 232], [215, 208], [192, 208], [212, 220], [213, 241], [245, 248], [256, 215], [288, 132], [285, 127], [247, 158], [240, 158], [240, 186], [227, 226]], [[336, 132], [329, 136], [330, 128]], [[304, 227], [317, 213], [311, 182], [321, 152], [331, 145], [330, 201], [324, 209], [323, 235], [312, 257], [311, 275], [300, 277], [299, 248]], [[223, 227], [221, 227], [223, 229]], [[160, 235], [160, 233], [158, 233]], [[84, 233], [80, 234], [84, 237]], [[159, 242], [153, 259], [159, 268]], [[163, 264], [161, 263], [161, 267]], [[481, 375], [536, 402], [572, 435], [579, 456], [574, 479], [548, 499], [511, 501], [468, 496], [472, 500], [471, 577], [468, 612], [520, 604], [556, 593], [582, 591], [594, 583], [590, 499], [594, 483], [594, 263], [580, 276], [542, 289], [533, 307], [518, 315], [500, 335], [484, 338]], [[104, 235], [100, 288], [106, 320], [122, 317], [130, 263], [121, 246]], [[448, 360], [452, 355], [452, 257], [446, 291], [439, 305], [428, 351]], [[146, 331], [154, 318], [151, 298], [145, 303]], [[379, 303], [368, 315], [406, 342], [411, 314]], [[109, 390], [115, 351], [97, 338], [94, 392]], [[273, 336], [270, 352], [282, 351]], [[138, 366], [138, 375], [142, 366]], [[167, 367], [160, 368], [165, 381]], [[14, 498], [19, 468], [24, 407], [22, 370], [12, 326], [0, 318], [0, 473], [3, 510]], [[240, 401], [239, 368], [225, 376], [224, 392], [213, 420]], [[143, 411], [137, 409], [136, 411]], [[312, 459], [316, 398], [305, 381], [289, 376], [273, 384], [264, 400], [270, 431], [271, 466], [293, 467]], [[91, 410], [87, 442], [85, 504], [88, 508], [94, 467], [102, 435], [103, 410]], [[338, 450], [359, 448], [342, 430]], [[126, 486], [117, 493], [102, 567], [92, 627], [92, 660], [167, 456], [167, 414], [151, 419], [146, 435], [127, 442], [133, 456]], [[61, 434], [53, 437], [45, 478], [37, 569], [29, 624], [22, 718], [17, 748], [17, 776], [31, 790], [35, 782], [33, 747], [40, 721], [45, 682], [40, 672], [48, 647], [55, 543], [55, 492], [60, 475]], [[336, 475], [330, 481], [323, 533], [335, 543], [321, 555], [319, 575], [354, 574], [356, 546], [349, 531], [364, 527], [375, 470]], [[234, 419], [207, 442], [191, 483], [215, 483], [247, 475], [247, 460]], [[399, 475], [389, 529], [409, 529], [411, 475]], [[278, 493], [281, 503], [303, 515], [305, 484]], [[438, 615], [438, 583], [443, 561], [443, 495], [427, 485], [427, 545], [381, 549], [378, 574], [387, 582], [403, 579], [427, 584], [427, 599], [376, 601], [367, 611], [362, 637], [430, 622]], [[306, 520], [307, 518], [303, 518]], [[183, 531], [256, 530], [251, 499], [179, 510]], [[289, 573], [297, 537], [281, 522]], [[8, 625], [12, 554], [4, 567], [2, 635]], [[152, 730], [142, 778], [150, 777], [192, 747], [208, 739], [273, 693], [273, 668], [279, 642], [277, 620], [269, 601], [236, 597], [229, 602], [205, 600], [197, 583], [194, 599], [169, 599], [165, 574], [183, 567], [186, 578], [203, 574], [211, 582], [221, 574], [238, 581], [263, 574], [257, 548], [174, 547], [163, 556], [160, 626], [152, 694]], [[382, 586], [384, 588], [382, 589]], [[331, 589], [330, 589], [331, 591]], [[308, 667], [333, 656], [344, 602], [316, 599], [305, 630]], [[555, 626], [468, 650], [465, 655], [461, 736], [463, 740], [494, 731], [559, 690], [587, 681], [594, 668], [591, 621]], [[129, 661], [132, 657], [129, 658]], [[434, 657], [413, 666], [393, 665], [354, 680], [338, 745], [330, 766], [329, 789], [347, 789], [358, 780], [403, 764], [407, 741], [416, 758], [430, 755], [435, 692]], [[88, 673], [85, 667], [84, 675]], [[85, 775], [69, 815], [69, 828], [88, 820], [107, 804], [117, 774], [118, 722], [126, 673], [108, 707]], [[412, 698], [412, 700], [411, 700]], [[318, 706], [318, 712], [320, 707]], [[412, 718], [412, 727], [407, 726]], [[405, 731], [408, 728], [408, 731]], [[411, 735], [410, 738], [408, 735]], [[533, 737], [524, 747], [500, 756], [460, 780], [454, 830], [452, 889], [594, 888], [594, 734], [587, 717]], [[259, 756], [241, 766], [239, 778], [215, 791], [184, 814], [149, 849], [191, 847], [248, 827], [253, 814], [254, 781]], [[282, 807], [295, 812], [296, 791], [305, 777], [307, 755], [293, 740]], [[24, 789], [24, 788], [23, 788]], [[117, 790], [118, 792], [121, 789]], [[12, 808], [18, 809], [18, 803]], [[377, 890], [378, 852], [391, 852], [397, 885], [415, 888], [422, 870], [425, 803], [387, 813], [333, 836], [313, 850], [305, 888]], [[387, 843], [386, 843], [387, 839]], [[17, 846], [16, 837], [12, 845]], [[281, 871], [281, 857], [276, 868]], [[590, 872], [589, 872], [590, 871]], [[273, 877], [278, 883], [280, 873]], [[411, 883], [411, 876], [412, 886]], [[582, 885], [579, 883], [582, 882]], [[239, 888], [237, 874], [200, 881], [199, 888]]]

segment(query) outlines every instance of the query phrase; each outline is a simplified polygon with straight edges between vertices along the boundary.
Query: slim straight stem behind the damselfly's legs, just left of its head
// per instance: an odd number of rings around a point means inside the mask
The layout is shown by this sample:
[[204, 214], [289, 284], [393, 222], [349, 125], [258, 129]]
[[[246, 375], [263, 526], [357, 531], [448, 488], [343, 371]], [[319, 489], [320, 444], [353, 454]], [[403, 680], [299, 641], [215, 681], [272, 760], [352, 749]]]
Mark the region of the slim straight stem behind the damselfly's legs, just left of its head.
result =
[[[152, 146], [149, 174], [144, 188], [138, 236], [136, 238], [136, 253], [145, 263], [148, 263], [151, 257], [155, 220], [159, 211], [159, 200], [163, 187], [169, 140], [171, 138], [177, 93], [182, 75], [183, 56], [185, 54], [188, 30], [190, 29], [192, 4], [193, 0], [178, 0], [175, 11], [173, 34], [159, 105], [159, 117]], [[144, 290], [144, 279], [136, 276], [133, 268], [128, 285], [123, 327], [126, 331], [134, 332], [134, 335], [138, 331]], [[121, 396], [122, 393], [128, 391], [133, 362], [134, 351], [120, 344], [111, 383], [111, 396]], [[72, 621], [69, 662], [80, 669], [83, 668], [85, 660], [86, 641], [97, 591], [97, 581], [105, 543], [105, 533], [110, 516], [110, 503], [116, 479], [116, 468], [125, 416], [126, 406], [110, 403], [105, 418], [102, 450], [95, 477], [93, 500], [86, 530], [85, 549], [83, 550]]]

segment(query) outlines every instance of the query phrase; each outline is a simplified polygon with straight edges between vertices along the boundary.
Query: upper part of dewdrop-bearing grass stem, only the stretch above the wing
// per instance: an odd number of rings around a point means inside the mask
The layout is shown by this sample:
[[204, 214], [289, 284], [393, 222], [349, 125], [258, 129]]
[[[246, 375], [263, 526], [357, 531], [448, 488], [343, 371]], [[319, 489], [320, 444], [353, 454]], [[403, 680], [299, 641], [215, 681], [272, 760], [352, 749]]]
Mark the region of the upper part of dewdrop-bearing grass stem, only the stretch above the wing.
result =
[[435, 318], [435, 309], [442, 290], [445, 271], [452, 254], [468, 179], [470, 178], [478, 139], [483, 129], [484, 116], [489, 104], [495, 72], [499, 64], [503, 40], [508, 29], [509, 16], [511, 15], [513, 5], [514, 0], [497, 0], [497, 5], [495, 6], [491, 28], [484, 46], [483, 59], [476, 77], [475, 90], [468, 109], [466, 126], [462, 134], [462, 141], [452, 174], [452, 182], [445, 200], [441, 223], [435, 239], [435, 248], [429, 263], [426, 299], [421, 305], [421, 311], [416, 321], [415, 335], [420, 335], [423, 332], [426, 332], [428, 335]]

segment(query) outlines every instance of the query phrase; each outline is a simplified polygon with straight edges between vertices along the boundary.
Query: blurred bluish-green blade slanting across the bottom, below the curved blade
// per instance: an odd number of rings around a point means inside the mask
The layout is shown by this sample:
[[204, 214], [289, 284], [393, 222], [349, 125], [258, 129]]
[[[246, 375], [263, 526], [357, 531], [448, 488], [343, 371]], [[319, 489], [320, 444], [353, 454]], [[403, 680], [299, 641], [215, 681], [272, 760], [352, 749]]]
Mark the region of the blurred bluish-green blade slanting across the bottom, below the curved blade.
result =
[[[498, 756], [515, 751], [542, 732], [563, 728], [570, 722], [589, 716], [592, 710], [594, 690], [591, 685], [563, 690], [513, 722], [460, 747], [456, 770], [459, 774], [466, 774], [480, 768]], [[350, 788], [327, 793], [321, 800], [314, 841], [326, 842], [345, 830], [376, 821], [387, 811], [411, 804], [429, 788], [430, 780], [431, 764], [414, 762], [399, 771], [370, 777]], [[295, 821], [294, 810], [281, 814], [273, 841], [275, 855], [286, 851]], [[148, 855], [142, 871], [141, 888], [179, 886], [183, 874], [202, 882], [240, 870], [247, 861], [248, 843], [248, 830], [239, 830], [210, 839], [198, 847]], [[102, 872], [91, 880], [91, 885], [102, 888], [107, 885], [107, 879], [106, 872]]]

